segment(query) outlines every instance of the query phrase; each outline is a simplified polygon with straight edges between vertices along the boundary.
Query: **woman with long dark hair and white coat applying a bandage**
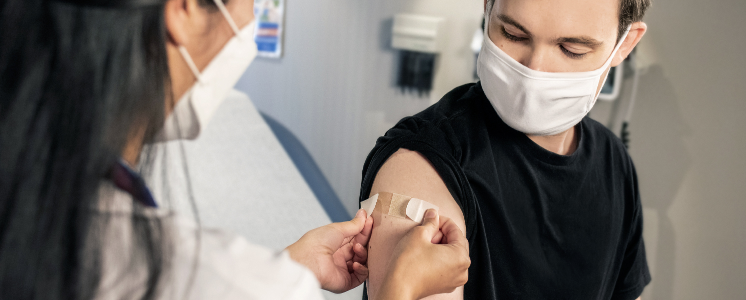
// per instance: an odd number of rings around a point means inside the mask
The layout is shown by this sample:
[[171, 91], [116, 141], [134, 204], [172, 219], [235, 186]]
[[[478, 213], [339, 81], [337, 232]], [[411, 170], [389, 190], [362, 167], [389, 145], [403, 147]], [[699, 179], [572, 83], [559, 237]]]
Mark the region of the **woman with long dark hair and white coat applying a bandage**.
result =
[[[273, 253], [158, 208], [167, 196], [131, 169], [163, 171], [143, 145], [191, 86], [178, 74], [230, 49], [252, 2], [228, 13], [204, 0], [0, 4], [0, 299], [321, 299], [319, 286], [366, 279], [374, 220], [362, 211]], [[197, 43], [225, 27], [222, 43]], [[434, 210], [399, 245], [377, 299], [466, 282], [466, 240]]]

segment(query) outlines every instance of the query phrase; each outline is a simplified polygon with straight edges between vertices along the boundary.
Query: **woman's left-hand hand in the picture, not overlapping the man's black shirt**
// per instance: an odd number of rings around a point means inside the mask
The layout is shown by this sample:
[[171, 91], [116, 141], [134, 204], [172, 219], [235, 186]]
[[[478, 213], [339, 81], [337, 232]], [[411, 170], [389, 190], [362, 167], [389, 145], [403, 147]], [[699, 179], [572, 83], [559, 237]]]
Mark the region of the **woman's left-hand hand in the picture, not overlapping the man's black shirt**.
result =
[[366, 246], [372, 229], [373, 218], [367, 217], [365, 210], [358, 210], [352, 221], [308, 231], [285, 250], [316, 274], [322, 289], [344, 293], [368, 278]]

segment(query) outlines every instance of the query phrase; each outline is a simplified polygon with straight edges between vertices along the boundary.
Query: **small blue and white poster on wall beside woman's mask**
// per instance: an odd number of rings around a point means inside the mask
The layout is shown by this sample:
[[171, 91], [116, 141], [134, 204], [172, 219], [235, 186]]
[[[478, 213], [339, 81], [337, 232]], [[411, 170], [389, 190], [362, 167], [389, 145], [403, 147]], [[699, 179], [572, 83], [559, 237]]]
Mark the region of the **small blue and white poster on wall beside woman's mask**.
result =
[[280, 58], [284, 20], [284, 0], [254, 0], [257, 28], [254, 40], [260, 57]]

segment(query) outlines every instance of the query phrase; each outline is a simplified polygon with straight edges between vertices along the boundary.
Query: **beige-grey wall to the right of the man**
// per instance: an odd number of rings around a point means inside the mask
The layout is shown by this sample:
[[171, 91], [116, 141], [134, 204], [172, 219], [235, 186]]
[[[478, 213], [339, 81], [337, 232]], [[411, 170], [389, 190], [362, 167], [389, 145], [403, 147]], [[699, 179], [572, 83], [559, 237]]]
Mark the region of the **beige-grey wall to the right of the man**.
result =
[[[746, 1], [653, 0], [645, 21], [630, 122], [643, 299], [746, 299]], [[592, 116], [613, 121], [613, 105]]]

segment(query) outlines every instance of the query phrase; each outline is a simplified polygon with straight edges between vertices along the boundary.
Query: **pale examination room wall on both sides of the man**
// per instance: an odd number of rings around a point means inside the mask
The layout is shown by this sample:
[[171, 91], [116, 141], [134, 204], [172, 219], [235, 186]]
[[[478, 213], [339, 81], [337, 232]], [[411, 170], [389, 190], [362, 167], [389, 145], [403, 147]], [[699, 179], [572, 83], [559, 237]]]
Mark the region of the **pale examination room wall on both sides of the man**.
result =
[[[482, 0], [288, 1], [285, 54], [237, 88], [298, 135], [349, 211], [374, 140], [471, 81]], [[448, 19], [430, 96], [394, 87], [395, 13]], [[746, 1], [653, 0], [630, 122], [653, 281], [643, 299], [746, 299]], [[592, 117], [618, 124], [630, 96]]]

